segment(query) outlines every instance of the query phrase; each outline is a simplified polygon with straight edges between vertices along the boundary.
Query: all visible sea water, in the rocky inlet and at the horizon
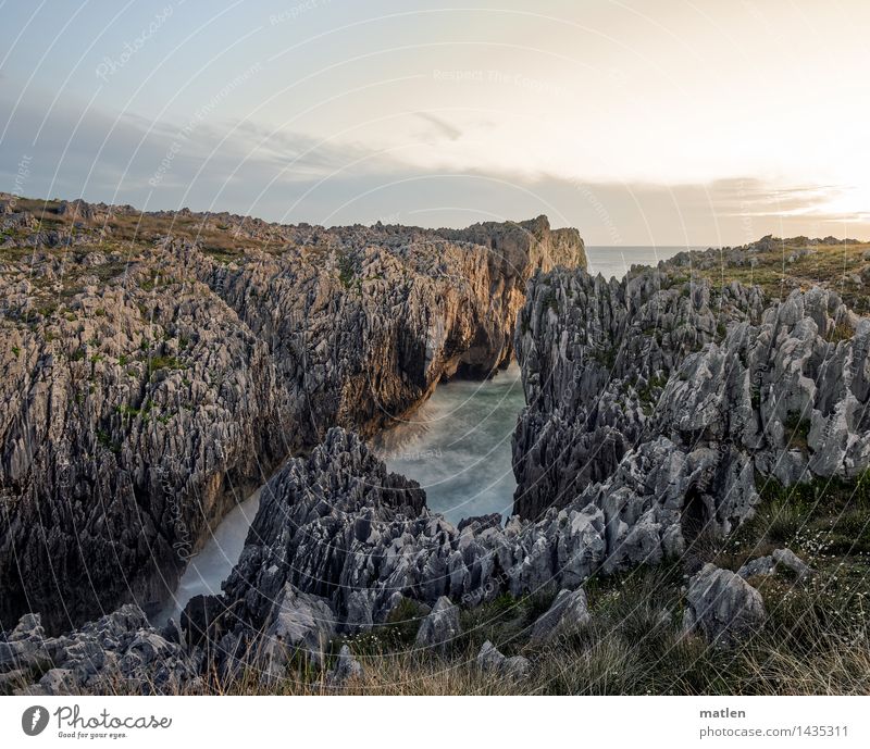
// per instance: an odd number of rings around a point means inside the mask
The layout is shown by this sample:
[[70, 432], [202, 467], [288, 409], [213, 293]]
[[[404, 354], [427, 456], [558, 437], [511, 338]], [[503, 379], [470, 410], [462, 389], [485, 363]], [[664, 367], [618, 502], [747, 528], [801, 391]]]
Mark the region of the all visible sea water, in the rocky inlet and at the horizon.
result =
[[[686, 247], [587, 247], [589, 270], [621, 278], [633, 264], [655, 265]], [[408, 421], [374, 440], [387, 467], [413, 478], [426, 502], [451, 522], [498, 512], [509, 517], [517, 483], [511, 437], [525, 405], [520, 367], [512, 363], [486, 382], [453, 380], [437, 387]], [[260, 492], [229, 512], [185, 571], [178, 589], [152, 620], [176, 620], [199, 594], [219, 594], [241, 554]]]

